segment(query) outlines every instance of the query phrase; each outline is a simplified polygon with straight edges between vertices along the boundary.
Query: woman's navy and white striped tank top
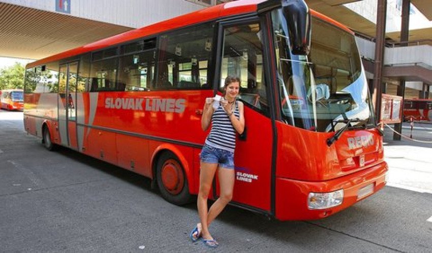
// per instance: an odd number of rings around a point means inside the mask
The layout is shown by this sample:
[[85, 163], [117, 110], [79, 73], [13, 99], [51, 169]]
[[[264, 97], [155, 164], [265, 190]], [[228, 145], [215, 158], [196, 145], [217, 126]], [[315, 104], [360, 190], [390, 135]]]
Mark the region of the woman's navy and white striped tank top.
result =
[[[235, 101], [234, 116], [237, 119], [240, 118], [237, 101]], [[213, 148], [234, 152], [235, 133], [236, 131], [227, 113], [225, 113], [224, 107], [219, 104], [218, 109], [211, 116], [211, 130], [205, 139], [205, 144]]]

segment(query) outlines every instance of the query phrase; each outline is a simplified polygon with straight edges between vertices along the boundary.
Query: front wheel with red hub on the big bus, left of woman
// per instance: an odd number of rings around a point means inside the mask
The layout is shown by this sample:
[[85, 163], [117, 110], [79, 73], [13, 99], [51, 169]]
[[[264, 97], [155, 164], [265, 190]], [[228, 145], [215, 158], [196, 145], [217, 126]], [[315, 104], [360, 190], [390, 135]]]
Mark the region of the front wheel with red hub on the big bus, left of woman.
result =
[[188, 179], [177, 157], [165, 152], [158, 160], [156, 178], [162, 197], [175, 205], [183, 205], [191, 201]]

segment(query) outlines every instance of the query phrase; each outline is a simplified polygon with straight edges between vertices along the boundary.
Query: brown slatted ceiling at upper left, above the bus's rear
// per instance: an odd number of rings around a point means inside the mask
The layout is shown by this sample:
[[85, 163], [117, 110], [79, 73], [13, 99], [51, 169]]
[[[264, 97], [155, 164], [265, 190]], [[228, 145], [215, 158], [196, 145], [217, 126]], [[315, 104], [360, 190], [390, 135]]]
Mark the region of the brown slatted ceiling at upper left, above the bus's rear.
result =
[[126, 26], [0, 3], [0, 56], [41, 59], [131, 30]]

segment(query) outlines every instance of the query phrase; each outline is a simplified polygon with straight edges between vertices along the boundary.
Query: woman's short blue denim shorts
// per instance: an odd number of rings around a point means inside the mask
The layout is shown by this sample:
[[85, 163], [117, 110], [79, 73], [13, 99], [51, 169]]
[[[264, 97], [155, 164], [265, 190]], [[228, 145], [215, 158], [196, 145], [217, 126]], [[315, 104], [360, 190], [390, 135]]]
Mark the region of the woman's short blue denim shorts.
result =
[[234, 169], [234, 153], [204, 145], [200, 154], [201, 162], [217, 163], [220, 167]]

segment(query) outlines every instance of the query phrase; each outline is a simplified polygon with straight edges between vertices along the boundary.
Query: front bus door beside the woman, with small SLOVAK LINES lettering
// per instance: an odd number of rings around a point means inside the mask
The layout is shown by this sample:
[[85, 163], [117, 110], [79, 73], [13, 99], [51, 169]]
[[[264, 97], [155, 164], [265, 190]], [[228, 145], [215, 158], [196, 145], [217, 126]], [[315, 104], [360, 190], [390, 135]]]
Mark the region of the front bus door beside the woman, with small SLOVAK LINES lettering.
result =
[[[222, 92], [227, 76], [240, 78], [238, 100], [244, 104], [246, 127], [245, 139], [236, 140], [232, 203], [270, 212], [273, 130], [263, 67], [265, 33], [258, 19], [249, 19], [223, 24], [219, 34], [222, 57], [217, 61], [215, 78], [219, 80], [215, 83]], [[213, 194], [219, 196], [219, 183], [215, 185]]]

